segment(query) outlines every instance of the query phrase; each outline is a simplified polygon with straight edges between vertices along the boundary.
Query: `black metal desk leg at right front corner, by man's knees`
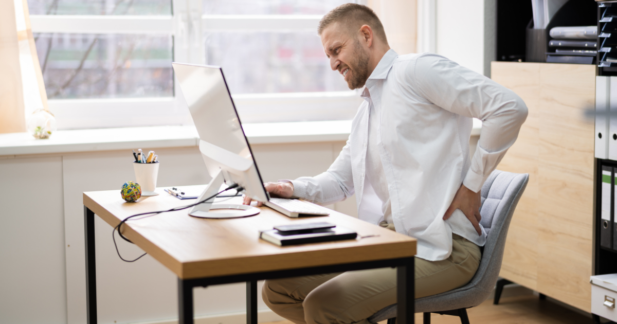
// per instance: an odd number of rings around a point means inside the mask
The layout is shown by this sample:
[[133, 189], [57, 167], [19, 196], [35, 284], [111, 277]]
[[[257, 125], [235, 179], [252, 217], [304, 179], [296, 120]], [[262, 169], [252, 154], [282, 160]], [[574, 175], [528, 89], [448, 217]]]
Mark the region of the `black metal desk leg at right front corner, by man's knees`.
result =
[[415, 286], [414, 281], [414, 259], [411, 258], [407, 265], [400, 265], [396, 268], [397, 281], [397, 314], [396, 320], [399, 324], [413, 324], [415, 317]]

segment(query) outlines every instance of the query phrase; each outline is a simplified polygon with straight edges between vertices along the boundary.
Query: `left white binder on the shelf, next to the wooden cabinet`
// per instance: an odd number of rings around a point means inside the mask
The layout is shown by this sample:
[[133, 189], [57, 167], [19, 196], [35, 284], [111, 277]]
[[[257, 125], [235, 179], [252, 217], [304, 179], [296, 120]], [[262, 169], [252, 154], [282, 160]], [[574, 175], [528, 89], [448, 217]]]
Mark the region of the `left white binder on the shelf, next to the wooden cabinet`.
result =
[[610, 78], [595, 77], [595, 157], [608, 159], [608, 118]]

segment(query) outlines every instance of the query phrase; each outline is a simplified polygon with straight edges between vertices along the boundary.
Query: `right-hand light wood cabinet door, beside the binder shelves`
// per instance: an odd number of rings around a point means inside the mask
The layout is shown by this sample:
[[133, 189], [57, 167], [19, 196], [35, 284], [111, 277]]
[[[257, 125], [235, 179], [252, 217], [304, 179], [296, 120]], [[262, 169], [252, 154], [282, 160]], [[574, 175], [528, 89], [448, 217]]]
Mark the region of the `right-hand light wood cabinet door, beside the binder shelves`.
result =
[[537, 291], [590, 312], [595, 67], [540, 65]]

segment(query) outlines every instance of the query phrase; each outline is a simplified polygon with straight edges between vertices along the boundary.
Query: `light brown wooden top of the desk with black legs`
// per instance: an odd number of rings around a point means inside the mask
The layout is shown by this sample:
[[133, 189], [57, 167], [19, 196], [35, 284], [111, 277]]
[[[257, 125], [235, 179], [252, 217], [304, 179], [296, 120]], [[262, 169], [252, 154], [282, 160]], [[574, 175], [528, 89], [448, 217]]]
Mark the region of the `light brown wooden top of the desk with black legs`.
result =
[[[204, 187], [205, 186], [201, 186]], [[159, 196], [125, 202], [119, 190], [83, 193], [83, 204], [111, 226], [134, 214], [186, 206], [195, 200], [176, 199], [157, 188]], [[225, 203], [241, 203], [234, 197]], [[410, 257], [416, 239], [334, 210], [328, 217], [289, 218], [269, 207], [245, 218], [205, 219], [188, 209], [129, 220], [122, 233], [180, 278], [202, 278], [288, 270]], [[135, 217], [140, 218], [140, 217]], [[331, 222], [355, 230], [358, 239], [275, 246], [259, 238], [260, 230], [289, 223]], [[372, 236], [375, 235], [375, 236]], [[362, 238], [362, 236], [370, 236]]]

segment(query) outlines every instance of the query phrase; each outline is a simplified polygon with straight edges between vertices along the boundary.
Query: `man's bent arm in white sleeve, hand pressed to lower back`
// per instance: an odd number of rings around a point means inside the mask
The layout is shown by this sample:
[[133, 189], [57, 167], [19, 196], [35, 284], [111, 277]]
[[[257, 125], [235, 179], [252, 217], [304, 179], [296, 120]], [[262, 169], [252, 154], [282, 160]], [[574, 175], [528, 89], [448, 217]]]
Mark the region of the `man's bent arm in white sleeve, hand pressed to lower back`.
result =
[[510, 89], [439, 56], [424, 56], [413, 73], [416, 89], [445, 110], [482, 120], [478, 147], [444, 220], [456, 209], [479, 228], [480, 189], [505, 152], [514, 144], [527, 118], [527, 106]]

